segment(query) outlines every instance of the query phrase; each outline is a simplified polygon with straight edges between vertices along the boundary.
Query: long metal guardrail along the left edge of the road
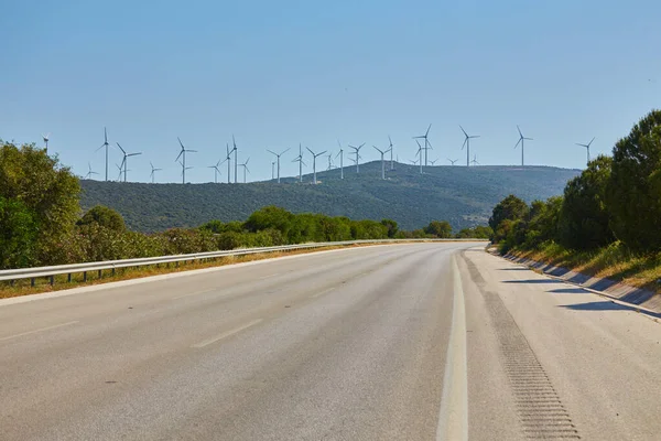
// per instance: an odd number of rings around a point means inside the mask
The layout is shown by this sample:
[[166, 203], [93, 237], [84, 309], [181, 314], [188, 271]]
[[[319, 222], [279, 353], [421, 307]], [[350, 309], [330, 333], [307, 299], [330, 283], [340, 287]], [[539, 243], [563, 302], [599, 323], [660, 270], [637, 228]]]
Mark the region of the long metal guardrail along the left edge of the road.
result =
[[37, 278], [50, 278], [50, 283], [55, 283], [55, 276], [67, 275], [67, 281], [72, 281], [72, 273], [83, 273], [83, 280], [87, 280], [87, 272], [97, 271], [99, 278], [102, 271], [110, 270], [115, 275], [115, 270], [119, 268], [130, 267], [143, 267], [150, 265], [170, 265], [175, 263], [178, 266], [180, 262], [204, 260], [204, 259], [217, 259], [220, 257], [228, 256], [245, 256], [261, 252], [275, 252], [275, 251], [291, 251], [296, 249], [306, 248], [324, 248], [332, 246], [347, 246], [347, 245], [361, 245], [361, 244], [392, 244], [392, 243], [410, 243], [410, 241], [483, 241], [480, 239], [376, 239], [376, 240], [345, 240], [345, 241], [325, 241], [325, 243], [311, 243], [311, 244], [297, 244], [297, 245], [282, 245], [277, 247], [262, 247], [262, 248], [240, 248], [230, 249], [223, 251], [208, 251], [208, 252], [196, 252], [192, 255], [174, 255], [174, 256], [158, 256], [158, 257], [145, 257], [138, 259], [122, 259], [122, 260], [105, 260], [98, 262], [86, 262], [86, 263], [73, 263], [73, 265], [56, 265], [52, 267], [34, 267], [34, 268], [18, 268], [18, 269], [6, 269], [0, 270], [0, 281], [10, 281], [21, 279], [31, 279], [31, 284], [34, 286], [34, 279]]

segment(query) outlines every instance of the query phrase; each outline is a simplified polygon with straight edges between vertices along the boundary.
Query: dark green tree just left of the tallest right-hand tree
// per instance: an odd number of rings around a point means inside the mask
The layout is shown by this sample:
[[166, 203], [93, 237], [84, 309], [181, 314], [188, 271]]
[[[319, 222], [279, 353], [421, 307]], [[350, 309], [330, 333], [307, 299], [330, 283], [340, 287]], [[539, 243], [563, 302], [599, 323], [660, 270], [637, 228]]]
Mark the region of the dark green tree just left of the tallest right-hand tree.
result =
[[559, 222], [559, 241], [563, 246], [586, 250], [615, 240], [606, 206], [611, 166], [611, 158], [599, 155], [567, 183]]

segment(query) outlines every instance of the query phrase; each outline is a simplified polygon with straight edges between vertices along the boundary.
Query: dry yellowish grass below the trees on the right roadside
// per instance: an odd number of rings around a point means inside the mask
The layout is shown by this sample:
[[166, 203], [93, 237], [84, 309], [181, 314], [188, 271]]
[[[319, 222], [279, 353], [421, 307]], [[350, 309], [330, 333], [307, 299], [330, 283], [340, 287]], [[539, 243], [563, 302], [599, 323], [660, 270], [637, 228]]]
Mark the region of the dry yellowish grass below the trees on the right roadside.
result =
[[512, 254], [661, 293], [661, 255], [636, 255], [620, 243], [595, 251], [570, 251], [551, 244], [539, 250]]

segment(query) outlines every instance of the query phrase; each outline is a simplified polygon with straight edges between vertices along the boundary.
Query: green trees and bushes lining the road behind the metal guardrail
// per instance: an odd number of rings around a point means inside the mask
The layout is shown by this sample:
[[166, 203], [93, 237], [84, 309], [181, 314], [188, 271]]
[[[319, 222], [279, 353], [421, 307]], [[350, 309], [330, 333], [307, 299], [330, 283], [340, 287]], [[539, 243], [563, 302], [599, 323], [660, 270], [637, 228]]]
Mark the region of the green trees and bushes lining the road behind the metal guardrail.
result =
[[[0, 140], [0, 269], [79, 263], [310, 241], [455, 237], [446, 220], [402, 230], [392, 219], [354, 220], [293, 214], [277, 206], [245, 222], [210, 220], [196, 228], [145, 234], [127, 228], [116, 211], [97, 205], [83, 213], [80, 183], [71, 169], [34, 144]], [[456, 236], [486, 238], [488, 227]]]

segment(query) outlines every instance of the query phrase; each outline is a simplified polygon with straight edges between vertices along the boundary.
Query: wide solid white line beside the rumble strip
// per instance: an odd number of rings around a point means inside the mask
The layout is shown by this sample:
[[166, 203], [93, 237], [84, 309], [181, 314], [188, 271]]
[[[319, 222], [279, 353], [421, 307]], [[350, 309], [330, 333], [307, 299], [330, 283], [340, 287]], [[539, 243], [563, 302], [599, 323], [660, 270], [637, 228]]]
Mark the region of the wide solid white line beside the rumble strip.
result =
[[443, 397], [438, 410], [436, 441], [468, 439], [468, 381], [466, 366], [466, 305], [462, 276], [456, 258], [452, 257], [453, 267], [453, 312], [452, 329], [445, 357], [445, 375], [443, 378]]

